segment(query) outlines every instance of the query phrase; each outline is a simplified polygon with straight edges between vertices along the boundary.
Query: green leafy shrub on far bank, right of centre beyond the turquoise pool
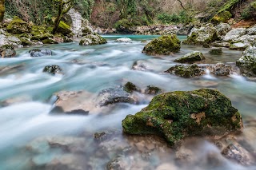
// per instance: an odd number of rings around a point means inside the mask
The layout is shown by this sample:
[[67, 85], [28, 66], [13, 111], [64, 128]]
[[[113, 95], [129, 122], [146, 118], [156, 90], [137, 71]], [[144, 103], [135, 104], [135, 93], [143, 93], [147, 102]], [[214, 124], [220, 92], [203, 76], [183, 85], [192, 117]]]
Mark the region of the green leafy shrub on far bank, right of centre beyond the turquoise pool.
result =
[[158, 20], [163, 24], [189, 23], [192, 21], [192, 18], [185, 10], [182, 10], [179, 14], [158, 14]]

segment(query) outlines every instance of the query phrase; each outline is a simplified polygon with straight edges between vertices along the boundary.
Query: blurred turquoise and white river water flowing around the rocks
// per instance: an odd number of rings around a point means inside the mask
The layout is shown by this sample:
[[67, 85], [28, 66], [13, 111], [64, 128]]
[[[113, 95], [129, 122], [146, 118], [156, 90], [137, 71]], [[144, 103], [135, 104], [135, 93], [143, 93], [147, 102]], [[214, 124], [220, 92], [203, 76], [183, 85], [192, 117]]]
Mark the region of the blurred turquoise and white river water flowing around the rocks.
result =
[[[186, 79], [163, 73], [177, 64], [174, 58], [194, 50], [205, 55], [206, 61], [203, 63], [234, 63], [241, 57], [241, 51], [224, 49], [222, 55], [214, 56], [208, 53], [209, 49], [182, 45], [181, 51], [173, 56], [154, 57], [142, 53], [142, 49], [146, 45], [145, 41], [157, 36], [130, 35], [126, 37], [133, 40], [131, 43], [114, 42], [120, 37], [124, 36], [106, 36], [106, 45], [81, 46], [78, 42], [72, 42], [17, 49], [18, 57], [0, 60], [0, 67], [19, 65], [8, 72], [0, 72], [1, 170], [106, 169], [111, 160], [119, 161], [126, 169], [165, 169], [165, 166], [168, 167], [166, 169], [191, 170], [256, 169], [254, 165], [242, 166], [227, 160], [208, 140], [199, 139], [190, 144], [190, 150], [185, 155], [192, 152], [193, 160], [183, 162], [177, 160], [177, 152], [166, 147], [162, 139], [122, 134], [122, 119], [146, 107], [149, 99], [138, 105], [119, 105], [104, 114], [51, 114], [54, 105], [52, 96], [61, 90], [86, 90], [97, 94], [102, 89], [124, 85], [127, 81], [138, 85], [140, 89], [155, 85], [165, 92], [212, 85], [230, 97], [242, 114], [245, 124], [243, 137], [252, 143], [251, 149], [256, 151], [254, 81], [238, 75], [205, 75]], [[179, 38], [182, 40], [186, 37]], [[51, 49], [53, 56], [30, 57], [28, 51], [35, 48]], [[135, 61], [146, 65], [147, 69], [131, 69]], [[63, 74], [52, 76], [42, 73], [46, 65], [60, 65]], [[110, 139], [94, 140], [95, 132], [113, 129], [115, 132], [110, 132]], [[49, 146], [50, 141], [52, 144]], [[130, 149], [130, 145], [135, 146], [135, 149]], [[214, 158], [209, 155], [214, 155]], [[56, 164], [60, 164], [58, 168], [54, 168]]]

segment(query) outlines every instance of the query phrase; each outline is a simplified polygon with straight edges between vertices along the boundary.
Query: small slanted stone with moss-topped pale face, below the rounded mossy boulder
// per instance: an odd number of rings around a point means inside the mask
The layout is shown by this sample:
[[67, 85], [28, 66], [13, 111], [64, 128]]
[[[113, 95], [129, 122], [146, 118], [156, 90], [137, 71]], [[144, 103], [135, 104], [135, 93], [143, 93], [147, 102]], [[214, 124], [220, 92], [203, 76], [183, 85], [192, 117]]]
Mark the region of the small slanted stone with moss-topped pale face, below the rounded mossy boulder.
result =
[[180, 63], [193, 63], [194, 61], [202, 61], [204, 59], [206, 59], [206, 57], [204, 57], [200, 51], [194, 51], [187, 53], [185, 56], [180, 57], [174, 61]]

